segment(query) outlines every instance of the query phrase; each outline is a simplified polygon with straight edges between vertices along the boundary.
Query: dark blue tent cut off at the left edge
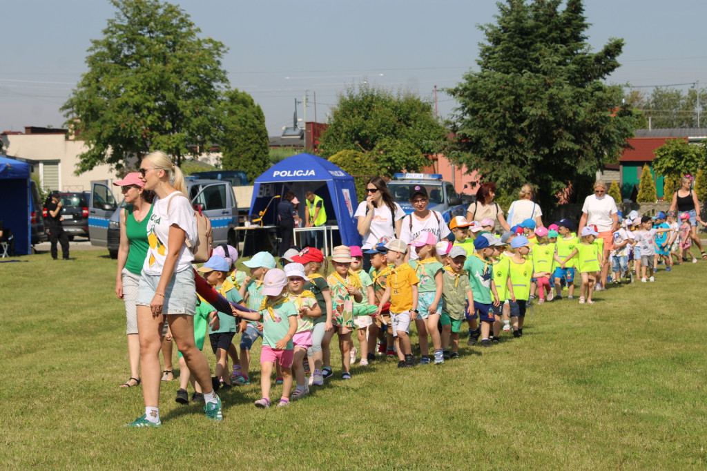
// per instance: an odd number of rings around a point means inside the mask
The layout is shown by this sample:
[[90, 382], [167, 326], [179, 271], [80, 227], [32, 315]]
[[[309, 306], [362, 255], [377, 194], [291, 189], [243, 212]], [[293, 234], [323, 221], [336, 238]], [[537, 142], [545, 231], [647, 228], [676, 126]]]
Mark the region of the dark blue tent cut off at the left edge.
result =
[[32, 246], [30, 226], [30, 164], [0, 156], [0, 219], [11, 228], [15, 253], [29, 255]]

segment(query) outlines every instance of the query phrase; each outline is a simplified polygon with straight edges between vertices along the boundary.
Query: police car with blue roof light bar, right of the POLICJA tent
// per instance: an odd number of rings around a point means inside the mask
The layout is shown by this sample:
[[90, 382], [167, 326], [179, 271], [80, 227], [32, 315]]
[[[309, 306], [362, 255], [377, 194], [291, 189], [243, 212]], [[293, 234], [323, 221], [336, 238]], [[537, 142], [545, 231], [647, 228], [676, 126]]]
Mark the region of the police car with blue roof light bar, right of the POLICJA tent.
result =
[[452, 184], [443, 181], [439, 173], [396, 173], [393, 178], [395, 180], [387, 184], [388, 191], [405, 214], [414, 211], [409, 201], [410, 190], [420, 185], [425, 187], [430, 197], [427, 208], [442, 213], [446, 222], [451, 221], [455, 216], [466, 216], [466, 205], [462, 204], [462, 199]]

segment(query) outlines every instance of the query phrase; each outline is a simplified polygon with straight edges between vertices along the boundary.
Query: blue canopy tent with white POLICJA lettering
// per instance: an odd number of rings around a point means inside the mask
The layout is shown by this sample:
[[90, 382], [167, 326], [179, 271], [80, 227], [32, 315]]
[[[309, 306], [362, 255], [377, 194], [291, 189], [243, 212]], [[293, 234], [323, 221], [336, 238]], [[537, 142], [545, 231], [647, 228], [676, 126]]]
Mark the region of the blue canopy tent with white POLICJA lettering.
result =
[[277, 225], [277, 202], [291, 191], [300, 201], [300, 217], [305, 216], [305, 193], [314, 192], [324, 200], [327, 211], [327, 226], [339, 226], [341, 243], [361, 245], [361, 236], [356, 229], [354, 211], [358, 207], [354, 177], [337, 165], [310, 153], [299, 153], [276, 163], [255, 179], [253, 197], [250, 202], [251, 218], [257, 218], [270, 204], [263, 216], [264, 226]]

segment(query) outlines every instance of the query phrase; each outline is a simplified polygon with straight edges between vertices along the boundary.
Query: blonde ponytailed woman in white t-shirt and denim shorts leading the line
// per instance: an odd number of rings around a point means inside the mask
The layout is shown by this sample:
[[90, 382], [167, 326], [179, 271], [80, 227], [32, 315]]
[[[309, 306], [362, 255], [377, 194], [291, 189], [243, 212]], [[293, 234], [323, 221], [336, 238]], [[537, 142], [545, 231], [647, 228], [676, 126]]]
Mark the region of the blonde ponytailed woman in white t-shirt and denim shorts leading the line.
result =
[[204, 391], [204, 412], [220, 421], [221, 400], [211, 386], [211, 371], [206, 356], [194, 342], [194, 311], [197, 291], [187, 241], [197, 240], [194, 209], [185, 196], [184, 176], [163, 152], [151, 152], [140, 164], [145, 190], [156, 199], [147, 223], [148, 250], [142, 268], [137, 296], [137, 330], [140, 339], [140, 366], [145, 415], [127, 426], [159, 426], [160, 352], [165, 320], [182, 352], [189, 371]]

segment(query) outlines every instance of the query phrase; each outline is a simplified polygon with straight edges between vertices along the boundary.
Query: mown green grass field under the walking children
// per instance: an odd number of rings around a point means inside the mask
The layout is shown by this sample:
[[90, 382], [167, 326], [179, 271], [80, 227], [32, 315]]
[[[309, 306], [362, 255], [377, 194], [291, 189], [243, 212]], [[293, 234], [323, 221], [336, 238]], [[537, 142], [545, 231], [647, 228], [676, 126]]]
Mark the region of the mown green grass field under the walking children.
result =
[[707, 466], [704, 262], [597, 293], [594, 306], [535, 306], [522, 339], [464, 344], [441, 366], [356, 366], [287, 409], [253, 407], [256, 380], [221, 395], [220, 424], [163, 383], [163, 426], [124, 429], [144, 407], [141, 388], [117, 387], [129, 368], [115, 261], [71, 256], [0, 264], [4, 469]]

